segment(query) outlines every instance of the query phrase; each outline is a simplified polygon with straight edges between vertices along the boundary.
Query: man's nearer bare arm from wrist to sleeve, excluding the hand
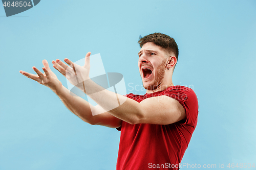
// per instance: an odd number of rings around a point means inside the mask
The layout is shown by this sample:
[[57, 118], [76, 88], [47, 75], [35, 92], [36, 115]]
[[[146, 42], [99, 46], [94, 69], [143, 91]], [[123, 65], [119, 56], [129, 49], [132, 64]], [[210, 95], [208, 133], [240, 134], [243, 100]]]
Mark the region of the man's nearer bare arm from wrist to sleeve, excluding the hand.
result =
[[[138, 103], [133, 99], [126, 98], [126, 96], [103, 89], [90, 79], [84, 84], [91, 99], [105, 110], [110, 110], [109, 113], [113, 116], [130, 124], [168, 125], [186, 118], [183, 106], [169, 96], [155, 96]], [[94, 93], [94, 90], [97, 92]], [[102, 96], [104, 97], [102, 98]], [[116, 103], [113, 101], [117, 97], [122, 104], [115, 107]]]

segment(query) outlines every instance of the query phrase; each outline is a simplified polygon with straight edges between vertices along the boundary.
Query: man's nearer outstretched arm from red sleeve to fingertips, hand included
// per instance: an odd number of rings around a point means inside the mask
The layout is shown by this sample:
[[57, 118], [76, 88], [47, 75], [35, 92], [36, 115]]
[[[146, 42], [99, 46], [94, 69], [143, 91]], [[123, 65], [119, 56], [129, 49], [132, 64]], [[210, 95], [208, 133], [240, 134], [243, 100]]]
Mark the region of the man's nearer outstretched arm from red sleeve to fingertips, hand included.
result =
[[[90, 54], [89, 52], [86, 55], [83, 66], [65, 59], [64, 61], [71, 67], [59, 60], [56, 60], [57, 63], [53, 62], [54, 67], [73, 85], [90, 96], [99, 106], [109, 110], [108, 112], [111, 115], [130, 124], [168, 125], [186, 118], [183, 106], [177, 100], [168, 96], [148, 98], [138, 103], [99, 86], [89, 78]], [[118, 104], [116, 102], [117, 98], [119, 100]]]

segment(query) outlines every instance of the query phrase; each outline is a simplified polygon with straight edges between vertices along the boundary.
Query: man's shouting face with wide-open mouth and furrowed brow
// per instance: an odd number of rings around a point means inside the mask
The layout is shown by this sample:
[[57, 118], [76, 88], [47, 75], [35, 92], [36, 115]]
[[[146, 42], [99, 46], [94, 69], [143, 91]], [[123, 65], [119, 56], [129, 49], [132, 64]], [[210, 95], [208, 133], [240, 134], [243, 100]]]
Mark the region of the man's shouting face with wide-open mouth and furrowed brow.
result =
[[139, 70], [145, 89], [155, 90], [164, 79], [167, 54], [153, 42], [145, 43], [139, 52]]

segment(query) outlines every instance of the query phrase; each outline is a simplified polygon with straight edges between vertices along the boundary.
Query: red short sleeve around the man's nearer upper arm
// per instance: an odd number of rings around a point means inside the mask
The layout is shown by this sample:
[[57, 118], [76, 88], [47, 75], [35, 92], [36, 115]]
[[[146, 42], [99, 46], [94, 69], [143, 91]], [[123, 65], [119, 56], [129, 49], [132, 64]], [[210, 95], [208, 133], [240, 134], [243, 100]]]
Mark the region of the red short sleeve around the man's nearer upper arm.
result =
[[181, 124], [197, 125], [198, 99], [194, 90], [184, 86], [173, 86], [172, 88], [167, 88], [163, 95], [177, 100], [185, 109], [186, 119]]

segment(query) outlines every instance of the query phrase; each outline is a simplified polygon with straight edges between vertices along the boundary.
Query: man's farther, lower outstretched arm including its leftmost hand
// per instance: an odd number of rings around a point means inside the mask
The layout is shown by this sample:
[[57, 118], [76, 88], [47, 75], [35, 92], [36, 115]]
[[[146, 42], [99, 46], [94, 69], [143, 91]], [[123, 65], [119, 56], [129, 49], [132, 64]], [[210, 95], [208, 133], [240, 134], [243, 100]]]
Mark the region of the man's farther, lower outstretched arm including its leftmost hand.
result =
[[121, 120], [104, 112], [98, 115], [92, 115], [92, 109], [97, 112], [97, 108], [90, 107], [90, 104], [78, 96], [73, 96], [69, 93], [69, 90], [62, 86], [61, 82], [57, 79], [56, 75], [51, 71], [49, 64], [46, 60], [42, 61], [44, 67], [42, 68], [45, 73], [42, 74], [36, 67], [32, 67], [37, 75], [30, 74], [26, 71], [20, 70], [19, 72], [24, 76], [37, 81], [38, 83], [49, 87], [54, 93], [56, 93], [62, 103], [74, 114], [80, 117], [84, 122], [92, 125], [102, 125], [110, 128], [118, 128], [121, 126]]

